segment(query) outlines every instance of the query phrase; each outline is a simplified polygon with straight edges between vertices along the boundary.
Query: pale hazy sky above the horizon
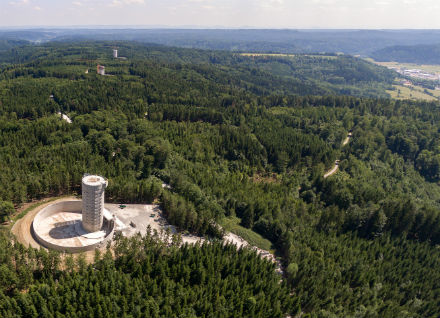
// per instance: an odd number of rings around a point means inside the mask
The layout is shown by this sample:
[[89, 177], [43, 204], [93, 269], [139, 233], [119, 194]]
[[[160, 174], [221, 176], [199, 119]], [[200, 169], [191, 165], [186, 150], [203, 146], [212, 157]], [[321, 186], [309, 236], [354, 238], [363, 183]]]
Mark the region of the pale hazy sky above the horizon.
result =
[[0, 0], [0, 26], [440, 28], [439, 0]]

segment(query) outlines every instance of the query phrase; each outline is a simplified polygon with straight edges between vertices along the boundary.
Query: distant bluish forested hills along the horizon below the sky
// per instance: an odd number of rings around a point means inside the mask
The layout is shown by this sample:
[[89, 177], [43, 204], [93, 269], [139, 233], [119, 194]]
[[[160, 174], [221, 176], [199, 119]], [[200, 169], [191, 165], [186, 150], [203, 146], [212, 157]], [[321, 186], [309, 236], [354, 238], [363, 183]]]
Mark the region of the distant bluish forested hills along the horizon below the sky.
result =
[[[204, 50], [255, 53], [334, 53], [369, 56], [396, 45], [437, 43], [439, 31], [367, 29], [199, 29], [199, 28], [20, 28], [0, 29], [0, 39], [48, 41], [136, 41]], [[1, 46], [0, 46], [1, 49]]]

